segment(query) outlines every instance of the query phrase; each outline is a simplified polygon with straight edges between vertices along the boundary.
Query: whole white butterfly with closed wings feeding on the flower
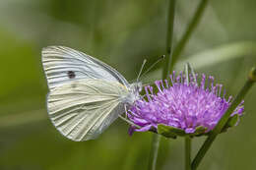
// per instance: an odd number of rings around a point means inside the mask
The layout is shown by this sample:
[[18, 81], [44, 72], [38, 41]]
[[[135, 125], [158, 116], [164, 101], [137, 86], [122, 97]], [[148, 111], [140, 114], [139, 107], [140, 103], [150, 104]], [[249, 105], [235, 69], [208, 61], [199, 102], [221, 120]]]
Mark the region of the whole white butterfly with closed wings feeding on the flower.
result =
[[63, 46], [42, 49], [51, 122], [73, 141], [96, 139], [140, 97], [141, 83], [129, 84], [116, 70]]

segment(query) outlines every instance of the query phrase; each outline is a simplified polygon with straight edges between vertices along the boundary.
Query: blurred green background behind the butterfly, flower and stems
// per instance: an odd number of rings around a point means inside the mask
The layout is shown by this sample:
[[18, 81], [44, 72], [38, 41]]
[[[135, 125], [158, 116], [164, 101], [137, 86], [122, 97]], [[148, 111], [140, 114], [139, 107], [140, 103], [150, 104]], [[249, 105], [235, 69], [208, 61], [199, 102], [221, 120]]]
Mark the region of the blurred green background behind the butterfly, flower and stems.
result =
[[[143, 59], [149, 67], [164, 54], [165, 0], [0, 1], [0, 169], [147, 169], [151, 133], [127, 135], [118, 120], [96, 141], [71, 142], [51, 125], [40, 50], [65, 45], [84, 51], [134, 80]], [[199, 0], [178, 0], [174, 41], [180, 39]], [[176, 65], [190, 61], [214, 75], [228, 94], [243, 85], [256, 63], [256, 1], [215, 0]], [[160, 79], [160, 65], [146, 82]], [[245, 98], [240, 124], [221, 135], [200, 168], [256, 169], [256, 87]], [[195, 153], [204, 138], [193, 141]], [[161, 140], [158, 169], [183, 169], [183, 141]]]

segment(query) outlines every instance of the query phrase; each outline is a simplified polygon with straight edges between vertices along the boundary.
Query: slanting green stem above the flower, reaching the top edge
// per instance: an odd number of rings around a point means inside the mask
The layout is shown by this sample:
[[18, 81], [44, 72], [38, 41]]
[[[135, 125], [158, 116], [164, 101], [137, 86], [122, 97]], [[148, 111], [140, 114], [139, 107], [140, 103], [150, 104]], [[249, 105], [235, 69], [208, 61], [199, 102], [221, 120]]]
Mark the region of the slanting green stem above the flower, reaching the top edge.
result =
[[186, 46], [189, 38], [191, 37], [192, 32], [195, 28], [197, 28], [199, 22], [201, 21], [201, 18], [203, 16], [203, 13], [207, 7], [209, 0], [201, 0], [199, 6], [197, 7], [196, 13], [189, 23], [185, 33], [182, 35], [181, 40], [178, 42], [177, 46], [175, 47], [173, 51], [173, 62], [171, 63], [171, 67], [174, 66], [174, 64], [177, 62], [178, 57], [180, 56], [181, 52], [183, 51], [184, 47]]

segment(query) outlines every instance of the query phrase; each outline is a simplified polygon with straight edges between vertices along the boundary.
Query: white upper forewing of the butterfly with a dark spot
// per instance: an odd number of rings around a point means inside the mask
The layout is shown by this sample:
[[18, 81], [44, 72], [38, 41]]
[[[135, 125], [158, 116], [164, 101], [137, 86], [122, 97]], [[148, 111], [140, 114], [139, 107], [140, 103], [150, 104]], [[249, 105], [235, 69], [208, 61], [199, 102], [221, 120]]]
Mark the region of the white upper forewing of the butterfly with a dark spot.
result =
[[49, 89], [80, 79], [102, 79], [128, 86], [125, 78], [105, 63], [64, 46], [42, 49], [42, 65]]

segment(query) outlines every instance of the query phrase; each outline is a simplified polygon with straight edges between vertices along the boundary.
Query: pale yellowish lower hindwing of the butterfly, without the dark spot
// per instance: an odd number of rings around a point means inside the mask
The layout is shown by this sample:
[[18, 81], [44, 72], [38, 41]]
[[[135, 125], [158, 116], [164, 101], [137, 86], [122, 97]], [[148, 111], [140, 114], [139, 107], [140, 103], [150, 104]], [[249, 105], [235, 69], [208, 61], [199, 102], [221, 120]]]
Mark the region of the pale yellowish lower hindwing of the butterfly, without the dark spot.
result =
[[124, 112], [124, 85], [104, 80], [78, 80], [57, 86], [47, 97], [49, 117], [57, 130], [73, 141], [96, 139]]

